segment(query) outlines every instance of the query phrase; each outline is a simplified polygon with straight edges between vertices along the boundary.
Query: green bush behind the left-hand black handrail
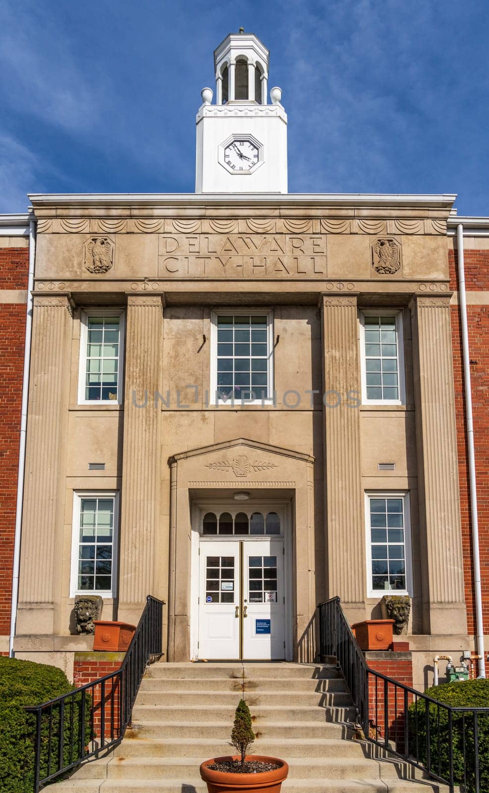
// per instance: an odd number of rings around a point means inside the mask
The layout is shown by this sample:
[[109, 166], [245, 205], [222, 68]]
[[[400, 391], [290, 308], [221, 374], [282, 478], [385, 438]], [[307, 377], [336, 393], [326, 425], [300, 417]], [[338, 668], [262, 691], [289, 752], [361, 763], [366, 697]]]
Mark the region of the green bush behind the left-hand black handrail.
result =
[[[32, 793], [34, 785], [34, 739], [36, 716], [24, 710], [25, 705], [39, 705], [61, 694], [74, 691], [61, 669], [32, 661], [0, 657], [0, 789], [2, 793]], [[82, 741], [80, 695], [68, 700], [64, 718], [63, 764], [78, 759], [77, 754], [90, 741], [88, 718]], [[86, 699], [87, 715], [90, 700]], [[41, 722], [40, 773], [48, 774], [51, 749], [51, 772], [57, 768], [59, 756], [59, 708], [53, 710], [51, 737], [47, 714]], [[74, 757], [71, 746], [75, 745]]]

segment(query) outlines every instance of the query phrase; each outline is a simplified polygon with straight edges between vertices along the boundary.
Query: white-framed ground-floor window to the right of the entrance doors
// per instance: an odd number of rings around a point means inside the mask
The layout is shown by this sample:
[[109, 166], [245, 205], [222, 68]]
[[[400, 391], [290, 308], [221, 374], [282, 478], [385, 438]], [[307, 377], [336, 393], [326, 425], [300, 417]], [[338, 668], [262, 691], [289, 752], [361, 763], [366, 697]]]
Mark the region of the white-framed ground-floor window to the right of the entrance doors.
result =
[[369, 494], [366, 503], [369, 596], [411, 594], [411, 535], [406, 494]]

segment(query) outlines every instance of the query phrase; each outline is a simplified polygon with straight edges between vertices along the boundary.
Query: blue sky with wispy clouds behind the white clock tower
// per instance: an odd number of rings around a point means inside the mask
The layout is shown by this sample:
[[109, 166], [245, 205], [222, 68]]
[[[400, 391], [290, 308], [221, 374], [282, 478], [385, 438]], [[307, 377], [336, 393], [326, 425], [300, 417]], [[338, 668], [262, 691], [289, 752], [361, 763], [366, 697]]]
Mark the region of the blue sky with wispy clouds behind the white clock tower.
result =
[[458, 193], [489, 215], [487, 0], [0, 0], [0, 212], [193, 192], [212, 51], [243, 25], [288, 113], [291, 193]]

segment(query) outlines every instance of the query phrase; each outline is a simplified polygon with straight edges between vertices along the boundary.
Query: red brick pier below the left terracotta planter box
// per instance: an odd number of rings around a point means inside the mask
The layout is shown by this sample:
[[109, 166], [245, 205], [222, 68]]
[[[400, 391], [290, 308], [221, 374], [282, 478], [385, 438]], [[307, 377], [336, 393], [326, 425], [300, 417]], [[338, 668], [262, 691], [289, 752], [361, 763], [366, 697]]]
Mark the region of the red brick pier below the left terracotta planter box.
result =
[[[117, 672], [124, 660], [125, 653], [75, 653], [73, 663], [73, 682], [77, 688], [93, 683], [100, 677]], [[119, 697], [120, 680], [106, 680], [88, 689], [94, 703], [94, 737], [100, 738], [103, 730], [106, 738], [113, 739], [120, 732]], [[103, 705], [102, 705], [103, 703]]]

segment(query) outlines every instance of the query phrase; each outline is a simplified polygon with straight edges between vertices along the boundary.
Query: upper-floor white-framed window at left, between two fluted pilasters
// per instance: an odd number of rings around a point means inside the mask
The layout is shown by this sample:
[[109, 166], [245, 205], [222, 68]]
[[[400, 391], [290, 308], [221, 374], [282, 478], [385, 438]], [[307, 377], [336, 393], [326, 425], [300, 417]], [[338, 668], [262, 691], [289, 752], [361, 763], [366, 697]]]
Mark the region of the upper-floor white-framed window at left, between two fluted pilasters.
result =
[[79, 404], [117, 404], [122, 400], [124, 312], [82, 312]]

